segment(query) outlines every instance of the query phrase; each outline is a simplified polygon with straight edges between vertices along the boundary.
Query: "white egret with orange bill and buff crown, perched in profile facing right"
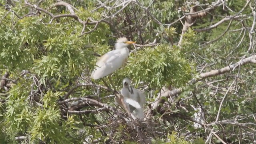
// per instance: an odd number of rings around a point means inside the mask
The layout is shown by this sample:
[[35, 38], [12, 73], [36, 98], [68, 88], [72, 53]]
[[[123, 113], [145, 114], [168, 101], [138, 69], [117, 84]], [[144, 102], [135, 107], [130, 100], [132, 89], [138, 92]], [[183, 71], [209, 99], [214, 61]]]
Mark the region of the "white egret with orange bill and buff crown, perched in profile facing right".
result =
[[92, 71], [91, 78], [97, 80], [109, 74], [112, 74], [115, 70], [120, 68], [128, 59], [129, 49], [127, 46], [129, 44], [134, 44], [135, 42], [128, 41], [127, 38], [118, 38], [115, 44], [115, 50], [107, 52], [99, 58], [96, 62], [96, 66]]

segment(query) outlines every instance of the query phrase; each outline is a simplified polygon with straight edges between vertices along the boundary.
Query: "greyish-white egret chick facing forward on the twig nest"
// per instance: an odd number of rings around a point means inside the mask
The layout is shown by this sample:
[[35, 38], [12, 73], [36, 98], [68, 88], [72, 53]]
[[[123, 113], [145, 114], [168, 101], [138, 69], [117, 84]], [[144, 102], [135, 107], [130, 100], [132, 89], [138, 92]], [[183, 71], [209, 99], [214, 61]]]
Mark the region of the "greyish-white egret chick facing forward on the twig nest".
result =
[[131, 82], [128, 78], [124, 78], [122, 83], [124, 87], [121, 90], [121, 94], [124, 98], [129, 98], [125, 102], [132, 114], [132, 117], [138, 119], [144, 118], [143, 108], [146, 103], [145, 95], [142, 92], [139, 92], [136, 88], [132, 88], [132, 86], [130, 86]]

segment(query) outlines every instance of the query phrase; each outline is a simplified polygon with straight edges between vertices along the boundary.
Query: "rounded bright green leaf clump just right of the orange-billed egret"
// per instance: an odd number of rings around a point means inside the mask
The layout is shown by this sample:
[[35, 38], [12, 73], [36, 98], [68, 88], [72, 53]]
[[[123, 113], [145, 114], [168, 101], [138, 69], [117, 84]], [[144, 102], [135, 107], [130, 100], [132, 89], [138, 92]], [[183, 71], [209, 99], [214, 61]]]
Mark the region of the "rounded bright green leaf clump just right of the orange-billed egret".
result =
[[130, 56], [127, 70], [124, 70], [136, 84], [142, 80], [150, 84], [150, 87], [160, 88], [164, 84], [180, 87], [191, 79], [190, 64], [180, 53], [179, 48], [161, 44], [155, 48], [144, 48], [144, 51]]

